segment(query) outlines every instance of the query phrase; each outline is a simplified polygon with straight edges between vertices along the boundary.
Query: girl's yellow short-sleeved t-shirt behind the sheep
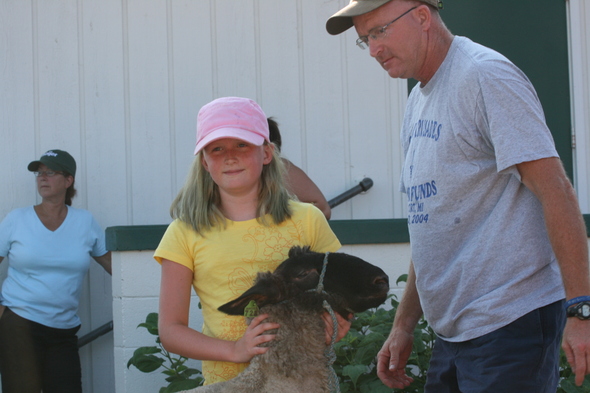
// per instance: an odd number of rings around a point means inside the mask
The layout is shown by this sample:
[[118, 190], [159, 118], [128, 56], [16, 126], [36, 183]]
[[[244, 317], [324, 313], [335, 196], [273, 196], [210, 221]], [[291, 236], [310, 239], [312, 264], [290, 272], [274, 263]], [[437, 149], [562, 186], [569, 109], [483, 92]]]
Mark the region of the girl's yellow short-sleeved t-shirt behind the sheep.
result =
[[[256, 274], [274, 271], [292, 246], [310, 246], [317, 252], [334, 252], [340, 242], [322, 212], [308, 203], [290, 202], [292, 216], [280, 225], [264, 226], [256, 219], [227, 220], [225, 229], [200, 236], [182, 221], [173, 221], [160, 241], [154, 258], [168, 259], [193, 271], [193, 287], [203, 310], [203, 333], [237, 341], [246, 331], [244, 317], [217, 310], [252, 286]], [[247, 363], [203, 361], [206, 384], [226, 381]]]

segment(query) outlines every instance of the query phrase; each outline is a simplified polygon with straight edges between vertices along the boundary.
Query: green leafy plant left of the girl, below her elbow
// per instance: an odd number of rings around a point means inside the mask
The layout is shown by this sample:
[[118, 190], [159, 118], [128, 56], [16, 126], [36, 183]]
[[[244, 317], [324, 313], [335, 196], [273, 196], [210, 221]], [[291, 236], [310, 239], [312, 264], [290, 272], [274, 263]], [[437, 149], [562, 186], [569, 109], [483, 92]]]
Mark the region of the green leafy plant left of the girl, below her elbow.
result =
[[168, 386], [160, 388], [159, 393], [180, 392], [203, 385], [204, 379], [200, 370], [187, 367], [185, 365], [187, 358], [172, 355], [162, 346], [158, 333], [157, 313], [149, 313], [145, 322], [137, 327], [144, 327], [151, 335], [156, 336], [157, 345], [137, 348], [133, 352], [133, 357], [127, 362], [127, 368], [135, 366], [144, 373], [163, 368], [161, 372], [166, 375]]

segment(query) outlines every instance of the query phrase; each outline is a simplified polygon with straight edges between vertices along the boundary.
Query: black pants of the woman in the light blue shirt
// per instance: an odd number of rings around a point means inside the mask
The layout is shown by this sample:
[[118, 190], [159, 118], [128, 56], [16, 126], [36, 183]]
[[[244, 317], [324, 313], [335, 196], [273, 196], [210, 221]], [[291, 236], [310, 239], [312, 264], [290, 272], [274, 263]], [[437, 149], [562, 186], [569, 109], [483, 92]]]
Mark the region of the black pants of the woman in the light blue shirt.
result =
[[0, 318], [2, 393], [81, 393], [78, 329], [41, 325], [7, 307]]

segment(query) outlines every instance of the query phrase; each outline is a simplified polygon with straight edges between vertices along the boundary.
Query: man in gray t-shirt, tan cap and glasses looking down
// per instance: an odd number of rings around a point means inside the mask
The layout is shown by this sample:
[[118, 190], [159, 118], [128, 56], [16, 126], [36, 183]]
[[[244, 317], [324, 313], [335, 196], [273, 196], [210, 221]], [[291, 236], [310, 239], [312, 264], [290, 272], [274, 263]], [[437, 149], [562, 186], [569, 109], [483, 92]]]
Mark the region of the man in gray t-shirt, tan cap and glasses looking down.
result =
[[[409, 385], [424, 314], [438, 336], [427, 392], [555, 392], [562, 333], [581, 384], [590, 316], [576, 310], [590, 305], [590, 278], [575, 192], [528, 78], [453, 36], [441, 5], [352, 0], [326, 25], [331, 34], [354, 25], [391, 77], [420, 82], [401, 132], [412, 262], [378, 374]], [[566, 307], [578, 318], [564, 332]]]

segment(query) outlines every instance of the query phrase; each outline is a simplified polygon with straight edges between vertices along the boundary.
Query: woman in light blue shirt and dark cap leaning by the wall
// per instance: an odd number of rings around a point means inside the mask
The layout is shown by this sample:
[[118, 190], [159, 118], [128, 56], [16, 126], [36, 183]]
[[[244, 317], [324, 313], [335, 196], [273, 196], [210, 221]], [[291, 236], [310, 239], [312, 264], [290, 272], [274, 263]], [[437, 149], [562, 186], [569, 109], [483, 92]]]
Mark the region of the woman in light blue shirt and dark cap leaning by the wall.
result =
[[28, 166], [41, 203], [0, 223], [0, 375], [3, 393], [82, 392], [77, 315], [93, 257], [109, 274], [104, 232], [86, 210], [71, 207], [76, 161], [49, 150]]

